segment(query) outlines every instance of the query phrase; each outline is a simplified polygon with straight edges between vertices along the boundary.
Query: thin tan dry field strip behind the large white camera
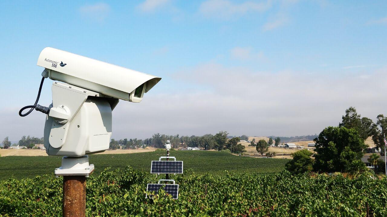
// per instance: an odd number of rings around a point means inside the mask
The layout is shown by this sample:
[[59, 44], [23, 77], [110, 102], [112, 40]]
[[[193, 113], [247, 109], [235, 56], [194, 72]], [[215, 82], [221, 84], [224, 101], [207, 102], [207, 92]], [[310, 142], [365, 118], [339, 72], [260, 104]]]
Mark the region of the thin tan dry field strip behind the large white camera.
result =
[[[154, 147], [146, 147], [145, 149], [117, 149], [107, 150], [97, 154], [129, 154], [155, 151]], [[48, 156], [46, 151], [39, 149], [0, 149], [0, 155], [5, 156]]]

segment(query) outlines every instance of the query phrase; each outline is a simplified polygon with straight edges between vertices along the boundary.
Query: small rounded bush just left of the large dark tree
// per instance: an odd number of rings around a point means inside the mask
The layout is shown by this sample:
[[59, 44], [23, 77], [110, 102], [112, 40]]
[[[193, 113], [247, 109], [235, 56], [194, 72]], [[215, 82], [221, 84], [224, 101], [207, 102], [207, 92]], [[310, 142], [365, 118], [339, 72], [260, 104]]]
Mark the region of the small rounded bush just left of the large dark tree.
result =
[[311, 158], [312, 152], [307, 149], [297, 151], [292, 153], [291, 159], [288, 163], [285, 164], [285, 169], [294, 174], [300, 174], [305, 172], [310, 172], [313, 170], [313, 159]]

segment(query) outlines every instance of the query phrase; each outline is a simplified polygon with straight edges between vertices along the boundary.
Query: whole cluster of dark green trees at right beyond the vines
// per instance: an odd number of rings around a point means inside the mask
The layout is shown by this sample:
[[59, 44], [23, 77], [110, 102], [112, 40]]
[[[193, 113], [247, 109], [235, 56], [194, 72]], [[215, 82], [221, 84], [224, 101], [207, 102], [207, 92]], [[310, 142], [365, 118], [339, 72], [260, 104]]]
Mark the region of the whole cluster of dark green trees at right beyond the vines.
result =
[[[285, 168], [293, 173], [307, 171], [316, 172], [349, 172], [359, 175], [368, 171], [365, 163], [361, 161], [368, 146], [365, 140], [372, 137], [373, 142], [380, 150], [379, 154], [372, 154], [368, 162], [374, 166], [375, 173], [384, 171], [384, 161], [379, 159], [384, 156], [384, 134], [387, 131], [387, 117], [377, 116], [377, 122], [367, 117], [361, 117], [354, 107], [349, 107], [338, 126], [326, 127], [314, 139], [315, 151], [308, 150], [293, 153], [293, 159]], [[311, 158], [311, 157], [314, 157]]]

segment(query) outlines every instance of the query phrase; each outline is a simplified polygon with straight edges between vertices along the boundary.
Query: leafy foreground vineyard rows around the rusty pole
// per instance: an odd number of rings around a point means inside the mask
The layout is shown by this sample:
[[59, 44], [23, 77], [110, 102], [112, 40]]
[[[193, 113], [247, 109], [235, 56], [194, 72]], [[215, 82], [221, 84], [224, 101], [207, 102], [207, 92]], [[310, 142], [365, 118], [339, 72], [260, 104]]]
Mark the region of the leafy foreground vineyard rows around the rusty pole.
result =
[[[369, 175], [293, 176], [200, 174], [173, 176], [178, 200], [145, 198], [159, 177], [130, 167], [87, 179], [86, 216], [387, 216], [387, 179]], [[0, 216], [61, 216], [62, 178], [0, 181]]]

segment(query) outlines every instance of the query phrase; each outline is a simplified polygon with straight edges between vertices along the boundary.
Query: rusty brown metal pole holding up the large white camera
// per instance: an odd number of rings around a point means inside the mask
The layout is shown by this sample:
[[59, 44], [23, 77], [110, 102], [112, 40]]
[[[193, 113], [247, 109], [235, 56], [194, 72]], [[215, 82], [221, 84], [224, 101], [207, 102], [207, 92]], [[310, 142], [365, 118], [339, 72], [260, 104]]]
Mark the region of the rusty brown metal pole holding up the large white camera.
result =
[[85, 217], [86, 176], [63, 176], [63, 217]]

